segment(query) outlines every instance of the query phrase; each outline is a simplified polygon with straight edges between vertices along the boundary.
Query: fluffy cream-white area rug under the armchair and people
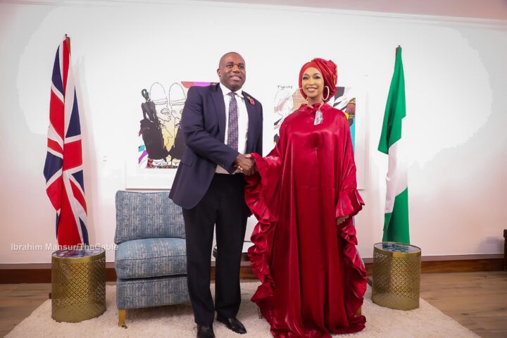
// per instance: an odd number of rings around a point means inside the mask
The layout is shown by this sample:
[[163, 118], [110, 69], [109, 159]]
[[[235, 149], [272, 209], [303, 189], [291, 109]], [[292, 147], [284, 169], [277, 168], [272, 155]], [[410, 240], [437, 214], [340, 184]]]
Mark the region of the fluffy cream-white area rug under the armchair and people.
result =
[[[271, 337], [269, 325], [258, 318], [257, 307], [249, 299], [258, 282], [242, 283], [242, 307], [238, 319], [244, 323], [247, 334], [239, 335], [215, 321], [213, 330], [218, 338], [226, 337]], [[195, 337], [196, 328], [192, 306], [182, 304], [127, 311], [127, 328], [118, 327], [118, 309], [115, 301], [115, 286], [106, 286], [107, 310], [98, 318], [81, 323], [57, 323], [51, 319], [51, 300], [17, 325], [6, 337]], [[377, 306], [371, 301], [371, 289], [365, 295], [363, 315], [366, 328], [355, 334], [336, 337], [479, 337], [455, 320], [420, 300], [420, 308], [399, 311]]]

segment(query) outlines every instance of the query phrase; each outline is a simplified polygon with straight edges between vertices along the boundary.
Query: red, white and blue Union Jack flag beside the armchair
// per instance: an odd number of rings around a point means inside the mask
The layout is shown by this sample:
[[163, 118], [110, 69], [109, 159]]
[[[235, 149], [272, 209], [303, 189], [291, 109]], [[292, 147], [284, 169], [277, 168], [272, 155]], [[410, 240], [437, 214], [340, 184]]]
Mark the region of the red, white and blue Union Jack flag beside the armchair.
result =
[[60, 246], [89, 244], [81, 127], [69, 42], [65, 37], [56, 51], [44, 164], [46, 194], [56, 210], [56, 238]]

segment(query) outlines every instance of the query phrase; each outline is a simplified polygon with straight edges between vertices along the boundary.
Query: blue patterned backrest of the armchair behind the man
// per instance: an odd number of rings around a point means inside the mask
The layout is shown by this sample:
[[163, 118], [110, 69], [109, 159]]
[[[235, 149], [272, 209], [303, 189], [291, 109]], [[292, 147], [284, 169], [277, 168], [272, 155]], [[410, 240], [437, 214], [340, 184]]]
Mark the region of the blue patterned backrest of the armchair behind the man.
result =
[[181, 208], [168, 192], [117, 192], [115, 243], [132, 239], [184, 238]]

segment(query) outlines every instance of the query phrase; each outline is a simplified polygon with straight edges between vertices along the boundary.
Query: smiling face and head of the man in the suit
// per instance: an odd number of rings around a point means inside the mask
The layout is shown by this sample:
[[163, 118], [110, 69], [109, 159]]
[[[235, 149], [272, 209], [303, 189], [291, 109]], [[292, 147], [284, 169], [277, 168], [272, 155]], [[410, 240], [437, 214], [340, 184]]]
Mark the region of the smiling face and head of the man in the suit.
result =
[[232, 92], [241, 89], [246, 80], [246, 68], [242, 56], [236, 53], [222, 56], [217, 73], [220, 83]]

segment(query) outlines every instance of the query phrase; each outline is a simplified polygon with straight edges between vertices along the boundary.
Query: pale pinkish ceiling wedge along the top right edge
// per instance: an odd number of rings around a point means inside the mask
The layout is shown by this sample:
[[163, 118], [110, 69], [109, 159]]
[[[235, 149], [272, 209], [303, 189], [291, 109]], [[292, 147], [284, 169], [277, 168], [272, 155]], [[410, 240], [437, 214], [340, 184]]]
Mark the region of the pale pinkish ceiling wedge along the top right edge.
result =
[[507, 20], [507, 0], [208, 0], [236, 4], [265, 4], [348, 11], [452, 16]]

